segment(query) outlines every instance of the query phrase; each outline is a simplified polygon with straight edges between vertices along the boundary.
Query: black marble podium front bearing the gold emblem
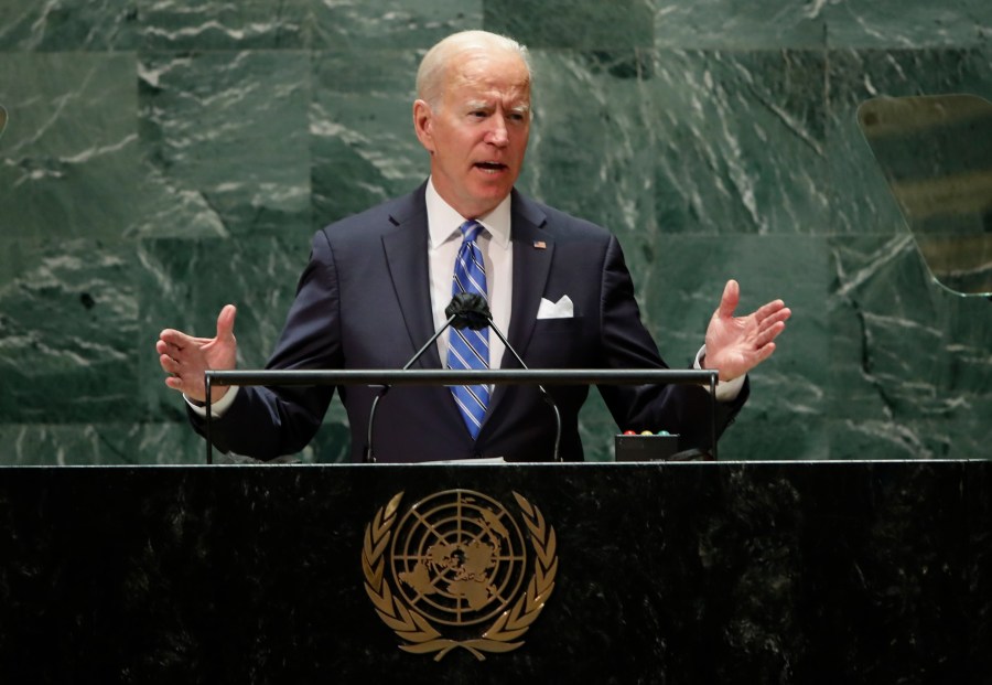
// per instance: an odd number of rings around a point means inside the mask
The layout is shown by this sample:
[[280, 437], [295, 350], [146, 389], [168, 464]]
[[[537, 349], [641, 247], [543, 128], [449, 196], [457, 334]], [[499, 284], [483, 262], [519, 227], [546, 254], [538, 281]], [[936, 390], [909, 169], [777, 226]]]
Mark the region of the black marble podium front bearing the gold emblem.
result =
[[[3, 468], [0, 673], [106, 684], [986, 683], [990, 488], [984, 461]], [[411, 592], [384, 564], [392, 539], [407, 540], [399, 557], [438, 545], [424, 532], [444, 525], [438, 502], [478, 505], [476, 520], [488, 507], [490, 533], [517, 525], [530, 552], [540, 547], [522, 589], [488, 576], [510, 609], [535, 568], [551, 584], [505, 640], [522, 644], [475, 653], [474, 627], [433, 618], [430, 591]], [[390, 542], [370, 548], [369, 531], [386, 528]], [[492, 550], [487, 535], [470, 537]], [[402, 649], [417, 643], [374, 602], [387, 585], [464, 644]], [[495, 635], [497, 620], [478, 625]]]

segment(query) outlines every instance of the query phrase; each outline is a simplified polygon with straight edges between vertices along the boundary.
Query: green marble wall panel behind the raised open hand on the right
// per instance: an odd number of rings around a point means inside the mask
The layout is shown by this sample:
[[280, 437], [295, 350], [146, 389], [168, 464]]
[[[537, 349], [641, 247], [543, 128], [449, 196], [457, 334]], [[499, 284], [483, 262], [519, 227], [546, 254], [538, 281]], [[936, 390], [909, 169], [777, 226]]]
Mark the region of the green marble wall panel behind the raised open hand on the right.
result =
[[830, 285], [816, 236], [665, 236], [639, 300], [669, 365], [691, 364], [723, 286], [741, 286], [737, 312], [783, 299], [792, 310], [774, 356], [751, 374], [751, 398], [720, 442], [720, 459], [826, 459], [832, 382], [823, 312]]

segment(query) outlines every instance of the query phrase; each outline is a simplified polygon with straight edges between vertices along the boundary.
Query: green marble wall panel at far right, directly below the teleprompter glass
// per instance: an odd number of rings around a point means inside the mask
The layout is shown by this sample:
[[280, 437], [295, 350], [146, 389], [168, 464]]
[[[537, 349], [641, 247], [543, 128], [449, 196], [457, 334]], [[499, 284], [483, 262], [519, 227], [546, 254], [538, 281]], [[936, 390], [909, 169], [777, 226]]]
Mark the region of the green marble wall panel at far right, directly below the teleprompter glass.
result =
[[989, 458], [989, 302], [934, 283], [907, 234], [830, 249], [831, 456]]

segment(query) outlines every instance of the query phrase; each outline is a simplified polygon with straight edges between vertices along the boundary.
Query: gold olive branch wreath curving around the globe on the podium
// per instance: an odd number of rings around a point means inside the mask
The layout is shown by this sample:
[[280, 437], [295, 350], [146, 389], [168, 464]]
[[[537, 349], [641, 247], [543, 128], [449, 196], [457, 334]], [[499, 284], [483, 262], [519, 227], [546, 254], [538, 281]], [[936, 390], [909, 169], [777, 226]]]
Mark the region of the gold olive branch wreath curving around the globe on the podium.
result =
[[554, 528], [548, 525], [540, 510], [514, 492], [524, 522], [530, 531], [530, 542], [536, 554], [533, 575], [527, 584], [527, 591], [511, 608], [499, 614], [479, 638], [452, 640], [442, 635], [422, 613], [405, 606], [393, 595], [386, 579], [386, 549], [391, 539], [391, 528], [397, 521], [397, 510], [402, 496], [403, 493], [400, 492], [376, 512], [375, 518], [365, 527], [365, 542], [362, 548], [365, 590], [382, 622], [406, 641], [406, 644], [400, 644], [399, 647], [412, 654], [433, 653], [434, 661], [441, 661], [456, 647], [467, 650], [479, 661], [485, 661], [485, 653], [511, 652], [520, 647], [524, 644], [520, 638], [548, 601], [554, 589], [554, 576], [558, 572]]

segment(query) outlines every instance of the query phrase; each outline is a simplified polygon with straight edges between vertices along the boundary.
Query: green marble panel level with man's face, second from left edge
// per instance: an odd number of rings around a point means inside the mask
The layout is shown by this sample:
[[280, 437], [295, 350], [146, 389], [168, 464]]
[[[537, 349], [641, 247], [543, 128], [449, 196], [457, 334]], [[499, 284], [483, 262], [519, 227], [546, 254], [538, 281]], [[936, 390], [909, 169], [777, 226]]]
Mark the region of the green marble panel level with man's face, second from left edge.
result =
[[[310, 56], [151, 53], [139, 64], [140, 146], [154, 193], [211, 234], [309, 234]], [[163, 200], [153, 205], [161, 213]], [[147, 220], [139, 233], [154, 232]]]

